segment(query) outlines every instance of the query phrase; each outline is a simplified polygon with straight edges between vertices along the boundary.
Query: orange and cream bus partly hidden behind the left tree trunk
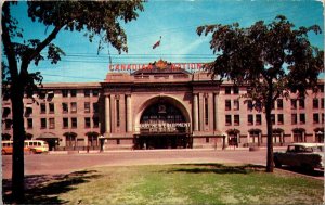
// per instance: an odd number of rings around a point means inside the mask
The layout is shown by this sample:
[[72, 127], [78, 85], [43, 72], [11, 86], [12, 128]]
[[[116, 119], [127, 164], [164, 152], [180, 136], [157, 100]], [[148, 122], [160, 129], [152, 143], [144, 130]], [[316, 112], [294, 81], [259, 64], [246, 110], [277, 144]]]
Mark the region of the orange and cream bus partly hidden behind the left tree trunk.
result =
[[[13, 152], [13, 141], [4, 140], [2, 141], [2, 154], [12, 154]], [[49, 152], [49, 144], [43, 140], [25, 140], [24, 141], [24, 152], [29, 152], [34, 154]]]

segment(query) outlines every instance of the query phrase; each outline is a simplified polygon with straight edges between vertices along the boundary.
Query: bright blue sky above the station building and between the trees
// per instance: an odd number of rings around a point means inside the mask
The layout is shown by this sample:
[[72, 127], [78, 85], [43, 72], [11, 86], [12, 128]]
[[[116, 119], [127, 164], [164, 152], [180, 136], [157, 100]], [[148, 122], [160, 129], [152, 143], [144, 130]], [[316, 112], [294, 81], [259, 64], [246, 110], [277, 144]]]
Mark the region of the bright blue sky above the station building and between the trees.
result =
[[[32, 23], [26, 9], [26, 3], [20, 2], [12, 10], [24, 29], [24, 36], [43, 39], [46, 27]], [[209, 48], [210, 37], [199, 37], [197, 26], [238, 22], [240, 26], [248, 27], [260, 20], [270, 23], [277, 14], [287, 16], [297, 27], [318, 24], [324, 30], [323, 4], [320, 1], [150, 0], [136, 21], [123, 25], [129, 52], [118, 55], [110, 47], [112, 61], [113, 64], [150, 63], [159, 59], [173, 63], [209, 62], [214, 57]], [[160, 47], [153, 50], [160, 36]], [[324, 50], [324, 34], [310, 35], [310, 39], [312, 44]], [[32, 64], [29, 69], [40, 71], [43, 82], [104, 80], [109, 64], [107, 49], [98, 55], [98, 42], [90, 43], [83, 33], [61, 31], [54, 42], [66, 56], [57, 64], [43, 61], [37, 67]]]

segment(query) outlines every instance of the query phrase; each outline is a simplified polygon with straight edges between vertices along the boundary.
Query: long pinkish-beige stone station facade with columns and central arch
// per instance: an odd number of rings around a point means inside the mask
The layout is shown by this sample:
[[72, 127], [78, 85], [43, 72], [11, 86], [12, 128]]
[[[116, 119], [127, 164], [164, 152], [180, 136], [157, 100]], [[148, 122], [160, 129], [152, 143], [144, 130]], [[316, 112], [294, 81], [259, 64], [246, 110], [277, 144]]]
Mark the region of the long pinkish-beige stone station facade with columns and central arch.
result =
[[[239, 98], [246, 87], [158, 63], [132, 74], [108, 73], [103, 82], [43, 85], [37, 103], [24, 100], [26, 132], [56, 150], [265, 145], [263, 112]], [[320, 87], [317, 94], [292, 93], [275, 103], [275, 145], [324, 141], [323, 81]], [[2, 108], [2, 132], [12, 136], [11, 102], [3, 100]]]

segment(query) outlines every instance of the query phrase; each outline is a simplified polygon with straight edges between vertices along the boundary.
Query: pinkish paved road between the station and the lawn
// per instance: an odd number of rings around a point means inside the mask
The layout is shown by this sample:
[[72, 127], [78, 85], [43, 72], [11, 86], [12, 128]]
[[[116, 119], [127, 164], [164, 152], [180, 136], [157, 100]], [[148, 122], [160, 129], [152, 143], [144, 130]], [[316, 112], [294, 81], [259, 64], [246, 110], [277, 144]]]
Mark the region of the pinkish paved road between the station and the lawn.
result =
[[[275, 149], [276, 151], [276, 149]], [[129, 166], [187, 163], [231, 163], [265, 165], [266, 150], [140, 150], [92, 154], [25, 155], [25, 175], [58, 175], [99, 166]], [[2, 178], [12, 175], [12, 156], [2, 156]], [[316, 174], [323, 179], [324, 174]]]

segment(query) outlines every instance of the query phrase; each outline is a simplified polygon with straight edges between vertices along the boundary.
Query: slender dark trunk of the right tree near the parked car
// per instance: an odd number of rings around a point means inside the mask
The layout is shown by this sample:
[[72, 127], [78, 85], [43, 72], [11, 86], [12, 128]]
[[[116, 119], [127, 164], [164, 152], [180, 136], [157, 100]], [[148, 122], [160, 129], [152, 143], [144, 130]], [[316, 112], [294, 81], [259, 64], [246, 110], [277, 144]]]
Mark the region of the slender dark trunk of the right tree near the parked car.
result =
[[273, 133], [272, 133], [272, 85], [271, 89], [269, 88], [268, 100], [265, 104], [265, 118], [266, 118], [266, 130], [268, 130], [268, 154], [266, 154], [266, 172], [273, 172]]

